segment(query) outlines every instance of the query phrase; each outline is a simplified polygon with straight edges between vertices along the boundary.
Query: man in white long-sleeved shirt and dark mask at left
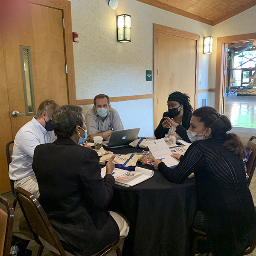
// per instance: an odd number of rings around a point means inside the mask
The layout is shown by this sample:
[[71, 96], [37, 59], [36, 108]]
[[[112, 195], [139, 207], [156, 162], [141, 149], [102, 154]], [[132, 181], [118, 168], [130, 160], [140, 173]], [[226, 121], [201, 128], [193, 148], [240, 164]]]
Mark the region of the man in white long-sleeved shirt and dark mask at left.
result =
[[[37, 116], [23, 125], [17, 132], [12, 151], [9, 177], [15, 180], [14, 187], [22, 187], [39, 198], [38, 183], [32, 169], [35, 147], [56, 140], [52, 128], [52, 113], [59, 105], [45, 100], [39, 105]], [[47, 159], [46, 159], [47, 161]]]

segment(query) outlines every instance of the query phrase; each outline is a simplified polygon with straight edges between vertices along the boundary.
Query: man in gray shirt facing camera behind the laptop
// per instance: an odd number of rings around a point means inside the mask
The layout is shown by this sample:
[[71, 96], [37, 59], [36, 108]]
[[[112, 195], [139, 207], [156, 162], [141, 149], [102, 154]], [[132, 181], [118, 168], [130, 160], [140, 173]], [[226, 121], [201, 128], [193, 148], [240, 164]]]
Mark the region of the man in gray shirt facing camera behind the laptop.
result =
[[108, 95], [96, 95], [93, 103], [93, 108], [85, 116], [87, 134], [91, 141], [94, 136], [101, 136], [103, 140], [109, 140], [112, 131], [124, 129], [118, 112], [109, 104]]

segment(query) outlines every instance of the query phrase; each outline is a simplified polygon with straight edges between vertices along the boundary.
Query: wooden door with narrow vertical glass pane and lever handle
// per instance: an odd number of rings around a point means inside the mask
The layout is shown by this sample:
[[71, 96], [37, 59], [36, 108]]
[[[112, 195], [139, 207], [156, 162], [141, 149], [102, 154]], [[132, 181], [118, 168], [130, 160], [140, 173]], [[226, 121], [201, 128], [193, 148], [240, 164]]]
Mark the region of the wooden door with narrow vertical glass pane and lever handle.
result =
[[[12, 40], [3, 43], [10, 112], [26, 112], [20, 46], [31, 50], [32, 70], [29, 73], [34, 87], [35, 109], [45, 99], [67, 104], [61, 10], [21, 1], [10, 7], [12, 13], [6, 15], [3, 31], [3, 38], [12, 35]], [[13, 137], [30, 119], [31, 115], [11, 117]]]

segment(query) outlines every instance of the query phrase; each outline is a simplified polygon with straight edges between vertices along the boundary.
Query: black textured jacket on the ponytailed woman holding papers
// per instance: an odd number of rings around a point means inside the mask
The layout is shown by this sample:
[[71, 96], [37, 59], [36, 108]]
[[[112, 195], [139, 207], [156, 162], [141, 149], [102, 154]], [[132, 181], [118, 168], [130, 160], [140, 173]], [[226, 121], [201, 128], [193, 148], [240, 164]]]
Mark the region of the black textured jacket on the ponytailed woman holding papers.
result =
[[222, 144], [212, 138], [196, 141], [177, 167], [169, 169], [160, 163], [158, 170], [174, 183], [181, 183], [195, 173], [212, 254], [242, 256], [256, 235], [256, 212], [244, 163]]

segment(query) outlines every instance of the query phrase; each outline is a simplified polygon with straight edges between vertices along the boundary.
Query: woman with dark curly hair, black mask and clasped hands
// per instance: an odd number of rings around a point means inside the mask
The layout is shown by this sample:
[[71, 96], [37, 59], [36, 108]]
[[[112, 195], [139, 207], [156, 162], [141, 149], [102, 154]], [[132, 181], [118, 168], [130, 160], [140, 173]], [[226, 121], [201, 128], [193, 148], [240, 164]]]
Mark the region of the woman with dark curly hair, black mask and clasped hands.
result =
[[160, 139], [165, 134], [168, 134], [169, 137], [173, 133], [176, 140], [183, 139], [191, 143], [186, 133], [193, 111], [189, 96], [181, 92], [171, 93], [167, 105], [168, 111], [163, 113], [163, 118], [154, 131], [155, 137]]

